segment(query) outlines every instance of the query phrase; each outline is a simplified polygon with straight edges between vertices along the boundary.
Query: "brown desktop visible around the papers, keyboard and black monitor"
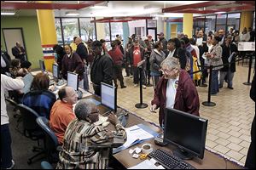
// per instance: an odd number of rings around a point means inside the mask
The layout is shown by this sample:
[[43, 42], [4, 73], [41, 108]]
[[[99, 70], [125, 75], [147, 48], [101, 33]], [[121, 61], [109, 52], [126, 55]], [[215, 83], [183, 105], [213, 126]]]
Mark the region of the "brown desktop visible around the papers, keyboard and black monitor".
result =
[[[90, 99], [90, 98], [100, 100], [100, 98], [96, 97], [95, 95], [88, 96], [84, 99]], [[104, 113], [106, 111], [106, 108], [104, 108], [104, 106], [102, 106], [102, 105], [99, 106], [99, 109], [100, 109], [101, 113]], [[144, 121], [142, 118], [140, 118], [132, 113], [129, 114], [129, 118], [128, 118], [126, 127], [131, 127], [133, 125], [137, 125], [140, 123], [150, 127], [152, 130], [154, 130], [154, 132], [157, 132], [157, 133], [161, 132], [159, 127], [155, 126], [154, 124]], [[108, 129], [112, 130], [113, 125], [109, 125]], [[129, 154], [129, 150], [131, 148], [135, 148], [136, 146], [142, 147], [142, 145], [145, 143], [152, 144], [154, 149], [160, 148], [160, 146], [154, 144], [154, 139], [149, 139], [148, 141], [145, 141], [142, 144], [136, 144], [126, 150], [122, 150], [119, 153], [114, 154], [113, 157], [117, 161], [119, 161], [123, 166], [125, 166], [126, 168], [133, 167], [133, 166], [137, 165], [138, 163], [142, 162], [143, 160], [132, 158], [131, 154]], [[172, 151], [174, 149], [174, 146], [168, 145], [166, 147], [161, 147], [161, 148], [163, 148], [164, 150]], [[192, 166], [194, 166], [195, 168], [198, 168], [198, 169], [213, 169], [213, 168], [214, 169], [241, 169], [242, 168], [235, 162], [228, 161], [223, 156], [214, 154], [209, 150], [205, 150], [205, 156], [204, 156], [203, 160], [201, 160], [199, 158], [194, 158], [193, 160], [189, 160], [188, 162]]]

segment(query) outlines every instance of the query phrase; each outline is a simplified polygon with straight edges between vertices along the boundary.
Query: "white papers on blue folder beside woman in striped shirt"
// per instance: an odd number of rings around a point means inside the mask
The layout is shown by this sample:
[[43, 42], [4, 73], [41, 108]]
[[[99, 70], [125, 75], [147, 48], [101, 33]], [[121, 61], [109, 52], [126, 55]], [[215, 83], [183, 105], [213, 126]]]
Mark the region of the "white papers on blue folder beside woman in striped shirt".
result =
[[141, 143], [146, 139], [154, 138], [157, 135], [152, 129], [143, 124], [125, 128], [125, 131], [127, 135], [125, 144], [121, 145], [119, 148], [114, 148], [113, 154], [125, 150], [134, 144]]

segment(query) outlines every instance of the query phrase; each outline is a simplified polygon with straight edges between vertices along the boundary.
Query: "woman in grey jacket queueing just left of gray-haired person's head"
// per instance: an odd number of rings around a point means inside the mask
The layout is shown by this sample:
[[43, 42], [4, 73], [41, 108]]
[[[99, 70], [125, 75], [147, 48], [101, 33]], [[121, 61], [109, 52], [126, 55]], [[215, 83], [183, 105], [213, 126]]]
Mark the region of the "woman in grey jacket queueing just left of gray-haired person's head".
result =
[[154, 88], [156, 88], [157, 82], [161, 76], [160, 64], [166, 58], [165, 52], [163, 52], [163, 43], [156, 42], [154, 45], [154, 50], [150, 54], [150, 75], [153, 79]]

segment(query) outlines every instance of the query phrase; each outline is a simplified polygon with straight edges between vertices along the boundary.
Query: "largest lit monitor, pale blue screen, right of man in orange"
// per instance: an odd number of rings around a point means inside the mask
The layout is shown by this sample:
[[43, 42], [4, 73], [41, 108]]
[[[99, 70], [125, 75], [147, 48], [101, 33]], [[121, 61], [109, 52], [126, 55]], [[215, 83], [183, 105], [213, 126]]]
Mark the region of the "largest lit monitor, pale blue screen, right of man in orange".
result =
[[116, 111], [117, 108], [117, 89], [114, 86], [101, 83], [102, 105], [107, 106], [111, 111]]

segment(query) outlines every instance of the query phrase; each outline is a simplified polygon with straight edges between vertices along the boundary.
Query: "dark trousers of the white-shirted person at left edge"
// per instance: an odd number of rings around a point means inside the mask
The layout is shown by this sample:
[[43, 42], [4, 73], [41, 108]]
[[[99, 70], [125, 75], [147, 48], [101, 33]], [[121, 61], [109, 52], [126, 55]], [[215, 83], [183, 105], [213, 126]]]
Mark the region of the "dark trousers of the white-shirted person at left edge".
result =
[[9, 133], [9, 124], [1, 125], [1, 169], [12, 165], [12, 139]]

